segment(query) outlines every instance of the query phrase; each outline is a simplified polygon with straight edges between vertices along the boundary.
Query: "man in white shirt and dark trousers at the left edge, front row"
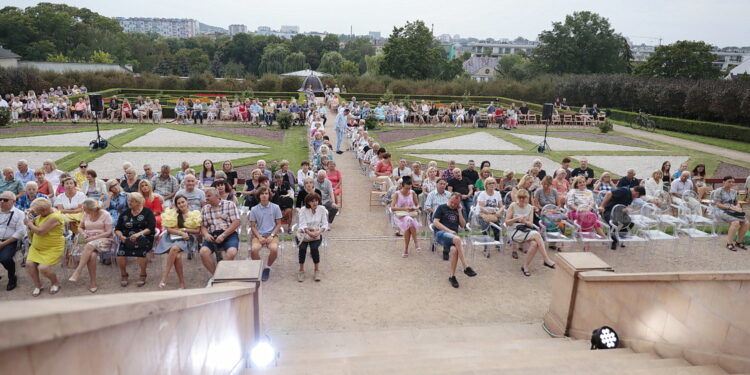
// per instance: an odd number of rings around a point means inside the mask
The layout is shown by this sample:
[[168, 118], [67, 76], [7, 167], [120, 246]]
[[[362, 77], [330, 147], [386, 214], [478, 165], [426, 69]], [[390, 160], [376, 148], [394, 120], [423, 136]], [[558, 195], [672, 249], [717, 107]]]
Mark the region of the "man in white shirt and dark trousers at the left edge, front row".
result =
[[8, 271], [8, 285], [5, 290], [16, 288], [16, 263], [13, 256], [18, 244], [26, 236], [23, 219], [26, 215], [15, 207], [16, 196], [9, 192], [0, 194], [0, 264]]

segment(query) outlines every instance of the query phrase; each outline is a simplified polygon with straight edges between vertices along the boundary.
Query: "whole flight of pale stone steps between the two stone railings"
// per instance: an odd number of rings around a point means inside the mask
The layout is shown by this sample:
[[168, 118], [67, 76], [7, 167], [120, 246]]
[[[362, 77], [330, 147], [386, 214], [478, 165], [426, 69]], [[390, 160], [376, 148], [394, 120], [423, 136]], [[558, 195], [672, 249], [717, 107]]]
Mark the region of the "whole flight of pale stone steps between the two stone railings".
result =
[[555, 339], [539, 324], [502, 324], [272, 337], [276, 367], [245, 374], [611, 374], [721, 375], [630, 349], [589, 350], [584, 340]]

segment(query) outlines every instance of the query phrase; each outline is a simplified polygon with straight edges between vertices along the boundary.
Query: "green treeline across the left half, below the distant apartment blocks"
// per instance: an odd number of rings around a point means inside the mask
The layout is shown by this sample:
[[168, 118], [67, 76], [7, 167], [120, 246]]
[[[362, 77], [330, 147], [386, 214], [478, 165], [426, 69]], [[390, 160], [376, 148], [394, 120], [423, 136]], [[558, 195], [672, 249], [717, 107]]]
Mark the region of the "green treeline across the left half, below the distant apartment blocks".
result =
[[39, 3], [0, 9], [0, 45], [33, 61], [92, 61], [130, 64], [138, 73], [244, 78], [305, 68], [332, 74], [362, 74], [375, 48], [366, 38], [341, 47], [337, 35], [237, 34], [217, 39], [164, 38], [125, 33], [115, 19], [86, 8]]

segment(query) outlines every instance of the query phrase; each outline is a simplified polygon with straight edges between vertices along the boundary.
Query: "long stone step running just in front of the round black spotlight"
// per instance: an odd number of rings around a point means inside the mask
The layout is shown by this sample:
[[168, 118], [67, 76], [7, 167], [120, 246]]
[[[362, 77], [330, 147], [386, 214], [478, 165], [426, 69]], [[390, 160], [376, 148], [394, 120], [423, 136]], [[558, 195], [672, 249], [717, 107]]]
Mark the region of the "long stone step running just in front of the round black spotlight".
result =
[[[315, 363], [297, 363], [288, 366], [281, 365], [273, 369], [263, 371], [266, 374], [316, 374], [316, 373], [388, 373], [410, 374], [436, 372], [459, 372], [469, 370], [487, 369], [512, 369], [530, 366], [547, 367], [560, 365], [561, 363], [594, 364], [606, 363], [613, 359], [617, 360], [650, 360], [654, 359], [651, 353], [637, 354], [630, 349], [614, 349], [602, 351], [565, 351], [536, 353], [534, 351], [500, 354], [500, 355], [477, 355], [477, 356], [454, 356], [437, 358], [414, 358], [409, 355], [394, 356], [392, 358], [336, 358]], [[250, 372], [252, 373], [252, 372]], [[260, 373], [260, 372], [257, 372]]]

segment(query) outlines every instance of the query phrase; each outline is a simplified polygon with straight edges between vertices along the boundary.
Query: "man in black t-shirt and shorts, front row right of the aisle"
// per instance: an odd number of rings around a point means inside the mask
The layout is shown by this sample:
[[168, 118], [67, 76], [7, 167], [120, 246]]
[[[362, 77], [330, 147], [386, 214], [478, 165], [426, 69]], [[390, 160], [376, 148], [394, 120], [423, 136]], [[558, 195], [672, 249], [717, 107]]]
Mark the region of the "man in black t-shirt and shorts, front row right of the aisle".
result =
[[448, 203], [438, 206], [432, 219], [432, 225], [435, 229], [435, 241], [443, 246], [450, 246], [451, 274], [448, 277], [451, 285], [458, 288], [456, 280], [456, 268], [458, 260], [464, 267], [464, 273], [469, 277], [477, 275], [464, 258], [464, 248], [461, 243], [461, 237], [458, 236], [458, 229], [466, 226], [466, 220], [461, 213], [461, 194], [453, 193], [448, 198]]

